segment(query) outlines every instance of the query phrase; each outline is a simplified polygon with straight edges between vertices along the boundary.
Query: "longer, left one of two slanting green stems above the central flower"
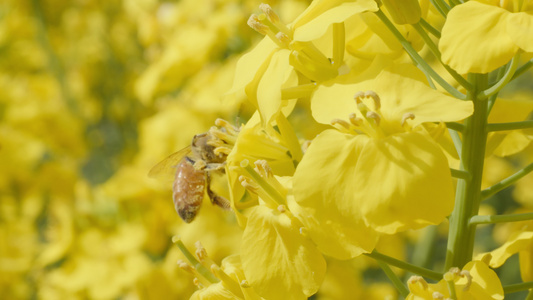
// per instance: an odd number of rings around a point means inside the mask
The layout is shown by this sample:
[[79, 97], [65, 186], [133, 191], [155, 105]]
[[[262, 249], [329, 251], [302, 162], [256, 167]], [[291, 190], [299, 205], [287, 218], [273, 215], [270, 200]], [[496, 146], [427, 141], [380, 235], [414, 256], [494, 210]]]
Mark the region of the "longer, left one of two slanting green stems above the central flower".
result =
[[387, 16], [381, 11], [378, 10], [375, 14], [379, 19], [389, 28], [392, 34], [398, 39], [400, 44], [403, 46], [403, 49], [411, 56], [411, 58], [417, 63], [418, 67], [424, 72], [429, 74], [440, 86], [442, 86], [450, 95], [457, 99], [465, 100], [466, 95], [459, 92], [446, 80], [444, 80], [433, 68], [431, 68], [428, 63], [416, 52], [411, 43], [405, 39], [405, 37], [398, 31], [394, 24], [387, 18]]

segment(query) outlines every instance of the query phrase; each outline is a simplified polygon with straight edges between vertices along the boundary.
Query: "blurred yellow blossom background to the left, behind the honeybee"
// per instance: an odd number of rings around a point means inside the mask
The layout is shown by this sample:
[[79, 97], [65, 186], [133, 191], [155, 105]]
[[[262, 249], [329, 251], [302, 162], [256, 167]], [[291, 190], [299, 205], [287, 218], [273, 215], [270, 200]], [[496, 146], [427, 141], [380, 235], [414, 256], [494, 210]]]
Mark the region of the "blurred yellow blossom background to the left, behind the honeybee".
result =
[[[260, 1], [4, 0], [0, 3], [0, 298], [187, 299], [179, 234], [220, 261], [229, 214], [194, 226], [147, 177], [216, 118]], [[283, 1], [291, 20], [308, 1]], [[284, 16], [285, 14], [285, 16]]]

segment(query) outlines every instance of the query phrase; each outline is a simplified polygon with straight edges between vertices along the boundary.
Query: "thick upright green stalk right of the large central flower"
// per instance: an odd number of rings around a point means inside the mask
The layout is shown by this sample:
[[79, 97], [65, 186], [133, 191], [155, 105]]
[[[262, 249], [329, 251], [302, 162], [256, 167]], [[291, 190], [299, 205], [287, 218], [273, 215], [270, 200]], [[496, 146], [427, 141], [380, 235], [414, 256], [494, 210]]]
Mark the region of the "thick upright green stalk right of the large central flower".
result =
[[475, 228], [469, 226], [470, 218], [477, 215], [481, 202], [481, 178], [484, 153], [487, 142], [487, 100], [477, 99], [480, 90], [487, 86], [487, 76], [469, 75], [474, 89], [468, 91], [468, 98], [474, 104], [474, 114], [465, 121], [464, 139], [461, 149], [462, 166], [471, 179], [459, 179], [454, 211], [450, 217], [450, 233], [446, 252], [445, 268], [462, 268], [472, 260]]

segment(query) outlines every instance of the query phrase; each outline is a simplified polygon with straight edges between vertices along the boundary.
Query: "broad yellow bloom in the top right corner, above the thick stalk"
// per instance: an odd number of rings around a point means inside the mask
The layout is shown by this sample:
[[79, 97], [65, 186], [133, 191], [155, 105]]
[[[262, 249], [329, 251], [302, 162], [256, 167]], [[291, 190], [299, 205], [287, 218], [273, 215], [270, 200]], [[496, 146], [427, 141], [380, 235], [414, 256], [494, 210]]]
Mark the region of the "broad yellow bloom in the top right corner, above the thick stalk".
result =
[[[533, 52], [533, 2], [496, 2], [468, 1], [450, 11], [439, 42], [444, 63], [461, 74], [488, 73], [520, 50]], [[500, 2], [521, 5], [502, 8]]]

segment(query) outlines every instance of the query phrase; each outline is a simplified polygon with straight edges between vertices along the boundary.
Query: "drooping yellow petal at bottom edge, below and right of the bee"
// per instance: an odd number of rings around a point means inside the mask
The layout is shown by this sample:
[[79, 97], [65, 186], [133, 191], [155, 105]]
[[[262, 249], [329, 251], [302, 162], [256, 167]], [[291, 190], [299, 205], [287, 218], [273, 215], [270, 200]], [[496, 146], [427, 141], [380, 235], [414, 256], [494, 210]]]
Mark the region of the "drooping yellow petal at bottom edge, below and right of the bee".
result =
[[244, 274], [262, 297], [307, 299], [318, 291], [326, 261], [287, 214], [252, 208], [242, 245]]

